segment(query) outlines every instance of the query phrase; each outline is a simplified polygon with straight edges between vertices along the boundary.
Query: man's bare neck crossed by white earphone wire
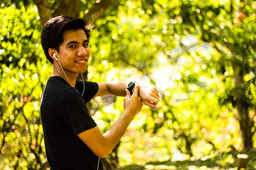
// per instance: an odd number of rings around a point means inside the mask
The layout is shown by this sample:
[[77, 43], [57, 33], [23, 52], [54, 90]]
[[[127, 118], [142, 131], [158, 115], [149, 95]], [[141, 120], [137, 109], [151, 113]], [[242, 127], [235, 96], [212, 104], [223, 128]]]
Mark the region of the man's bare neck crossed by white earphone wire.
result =
[[[61, 69], [61, 66], [59, 65], [59, 63], [57, 63], [58, 65], [53, 65], [53, 72], [52, 72], [52, 77], [53, 76], [58, 76], [63, 78], [69, 85], [71, 85], [72, 87], [75, 87], [76, 85], [76, 77], [78, 76], [78, 73], [70, 73], [70, 71], [67, 71], [63, 68], [63, 71]], [[66, 77], [67, 76], [67, 77]]]

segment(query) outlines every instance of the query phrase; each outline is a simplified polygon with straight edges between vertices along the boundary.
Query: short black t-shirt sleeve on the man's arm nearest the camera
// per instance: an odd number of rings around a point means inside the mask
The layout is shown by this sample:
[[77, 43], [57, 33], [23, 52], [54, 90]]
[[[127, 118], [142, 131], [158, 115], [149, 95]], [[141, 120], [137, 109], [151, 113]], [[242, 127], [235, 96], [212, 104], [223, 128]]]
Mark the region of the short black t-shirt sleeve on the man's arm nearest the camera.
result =
[[58, 116], [67, 122], [75, 136], [97, 126], [81, 94], [75, 88], [62, 91], [55, 100], [53, 108], [57, 114], [60, 114]]

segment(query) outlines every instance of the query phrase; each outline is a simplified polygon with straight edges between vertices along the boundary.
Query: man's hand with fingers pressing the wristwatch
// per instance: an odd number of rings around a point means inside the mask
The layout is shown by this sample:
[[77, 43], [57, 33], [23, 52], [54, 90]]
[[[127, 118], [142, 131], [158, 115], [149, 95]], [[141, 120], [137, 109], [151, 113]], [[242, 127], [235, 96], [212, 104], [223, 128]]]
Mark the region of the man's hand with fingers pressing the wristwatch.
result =
[[126, 92], [126, 96], [124, 99], [124, 108], [125, 108], [125, 112], [127, 112], [128, 114], [133, 114], [133, 116], [136, 116], [141, 108], [143, 107], [143, 102], [140, 99], [140, 96], [138, 96], [138, 92], [139, 92], [139, 83], [135, 83], [135, 87], [134, 87], [134, 93], [131, 96], [130, 91], [128, 91], [127, 89], [125, 89]]

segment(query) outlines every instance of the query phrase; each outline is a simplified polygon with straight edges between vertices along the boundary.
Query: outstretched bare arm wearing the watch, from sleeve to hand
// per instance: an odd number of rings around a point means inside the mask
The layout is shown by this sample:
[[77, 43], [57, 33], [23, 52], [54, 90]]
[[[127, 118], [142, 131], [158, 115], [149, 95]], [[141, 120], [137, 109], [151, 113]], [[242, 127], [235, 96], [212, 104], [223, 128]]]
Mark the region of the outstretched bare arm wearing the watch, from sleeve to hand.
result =
[[[128, 86], [128, 82], [97, 82], [99, 90], [94, 96], [105, 96], [113, 94], [115, 96], [126, 96], [125, 89]], [[132, 90], [134, 91], [134, 89]], [[159, 102], [159, 93], [155, 87], [145, 87], [140, 85], [139, 96], [145, 105], [151, 108], [158, 109], [157, 104]]]

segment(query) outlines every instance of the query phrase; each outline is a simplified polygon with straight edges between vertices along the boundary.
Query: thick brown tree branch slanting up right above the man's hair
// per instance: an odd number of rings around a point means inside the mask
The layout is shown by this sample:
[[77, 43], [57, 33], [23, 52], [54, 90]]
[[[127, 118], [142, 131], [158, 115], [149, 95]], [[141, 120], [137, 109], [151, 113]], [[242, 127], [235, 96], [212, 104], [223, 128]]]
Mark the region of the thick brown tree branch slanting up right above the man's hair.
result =
[[83, 18], [88, 19], [91, 24], [95, 24], [96, 21], [105, 14], [108, 7], [117, 1], [118, 0], [96, 0], [96, 3], [94, 3], [89, 11], [84, 14]]

